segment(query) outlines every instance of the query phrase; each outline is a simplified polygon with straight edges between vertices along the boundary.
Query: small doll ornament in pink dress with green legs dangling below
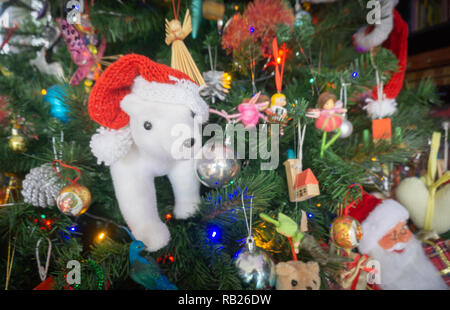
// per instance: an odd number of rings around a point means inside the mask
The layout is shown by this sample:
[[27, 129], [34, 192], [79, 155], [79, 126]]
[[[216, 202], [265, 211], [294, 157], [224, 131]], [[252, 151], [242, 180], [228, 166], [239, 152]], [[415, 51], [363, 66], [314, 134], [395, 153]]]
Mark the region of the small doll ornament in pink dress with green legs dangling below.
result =
[[[314, 125], [323, 131], [320, 157], [323, 157], [325, 150], [339, 138], [343, 120], [341, 114], [345, 112], [347, 109], [342, 107], [342, 101], [337, 101], [336, 96], [329, 92], [324, 92], [319, 96], [317, 109], [307, 111], [306, 116], [316, 118]], [[327, 133], [335, 130], [337, 130], [336, 134], [327, 142]]]

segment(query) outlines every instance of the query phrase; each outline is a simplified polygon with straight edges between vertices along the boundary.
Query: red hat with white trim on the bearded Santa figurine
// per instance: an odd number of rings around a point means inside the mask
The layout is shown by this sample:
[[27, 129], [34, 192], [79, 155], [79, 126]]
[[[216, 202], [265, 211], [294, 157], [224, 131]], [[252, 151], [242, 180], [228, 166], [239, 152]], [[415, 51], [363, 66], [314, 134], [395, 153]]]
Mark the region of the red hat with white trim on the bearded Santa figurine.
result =
[[408, 211], [397, 201], [378, 199], [365, 192], [356, 207], [349, 209], [348, 215], [361, 223], [363, 237], [358, 249], [362, 254], [368, 254], [386, 233], [409, 218]]

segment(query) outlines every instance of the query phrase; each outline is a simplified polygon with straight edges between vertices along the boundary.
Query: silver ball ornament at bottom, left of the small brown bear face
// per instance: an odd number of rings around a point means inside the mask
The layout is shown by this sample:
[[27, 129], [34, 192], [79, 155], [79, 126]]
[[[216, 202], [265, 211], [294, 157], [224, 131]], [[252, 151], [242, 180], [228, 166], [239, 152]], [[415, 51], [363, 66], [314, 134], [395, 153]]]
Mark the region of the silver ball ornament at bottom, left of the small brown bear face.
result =
[[244, 286], [253, 284], [256, 289], [270, 289], [275, 285], [276, 272], [272, 258], [254, 244], [239, 250], [233, 262]]

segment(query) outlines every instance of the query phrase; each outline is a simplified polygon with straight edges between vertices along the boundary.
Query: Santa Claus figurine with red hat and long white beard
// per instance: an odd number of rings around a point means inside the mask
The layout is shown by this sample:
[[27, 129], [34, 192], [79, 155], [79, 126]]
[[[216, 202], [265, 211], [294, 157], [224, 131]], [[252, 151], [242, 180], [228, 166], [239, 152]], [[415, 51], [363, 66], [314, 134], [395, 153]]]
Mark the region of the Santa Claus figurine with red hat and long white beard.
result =
[[379, 263], [379, 288], [385, 290], [444, 290], [445, 281], [425, 255], [421, 242], [406, 225], [409, 213], [392, 199], [363, 193], [349, 215], [361, 223], [358, 250]]

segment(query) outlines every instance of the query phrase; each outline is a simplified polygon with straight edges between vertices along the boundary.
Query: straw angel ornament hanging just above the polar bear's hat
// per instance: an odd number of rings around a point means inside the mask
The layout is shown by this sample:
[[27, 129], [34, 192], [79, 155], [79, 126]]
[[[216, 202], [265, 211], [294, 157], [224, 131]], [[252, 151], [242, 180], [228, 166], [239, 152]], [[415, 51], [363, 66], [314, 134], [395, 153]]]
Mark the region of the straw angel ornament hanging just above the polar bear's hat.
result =
[[178, 14], [175, 14], [175, 19], [172, 19], [170, 22], [166, 19], [166, 44], [172, 44], [170, 66], [187, 74], [198, 85], [203, 85], [205, 81], [183, 41], [191, 31], [192, 23], [189, 10], [186, 11], [184, 16], [183, 26], [178, 20]]

